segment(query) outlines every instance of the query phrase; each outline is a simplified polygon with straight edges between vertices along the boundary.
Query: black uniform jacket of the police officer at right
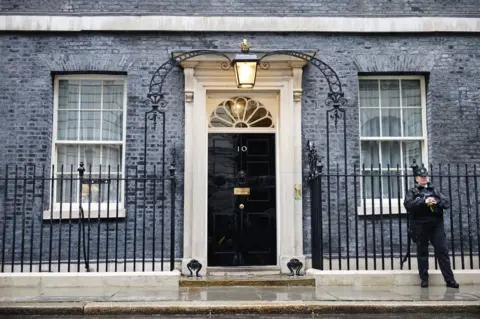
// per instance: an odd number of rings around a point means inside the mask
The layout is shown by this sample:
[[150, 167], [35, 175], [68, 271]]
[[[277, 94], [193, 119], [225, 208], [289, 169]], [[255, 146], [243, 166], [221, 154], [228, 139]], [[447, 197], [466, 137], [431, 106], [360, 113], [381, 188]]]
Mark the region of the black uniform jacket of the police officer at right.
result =
[[[425, 204], [428, 197], [434, 197], [437, 204], [432, 206]], [[450, 208], [447, 198], [430, 183], [426, 187], [416, 184], [409, 189], [403, 205], [413, 215], [413, 220], [418, 222], [443, 219], [443, 210]]]

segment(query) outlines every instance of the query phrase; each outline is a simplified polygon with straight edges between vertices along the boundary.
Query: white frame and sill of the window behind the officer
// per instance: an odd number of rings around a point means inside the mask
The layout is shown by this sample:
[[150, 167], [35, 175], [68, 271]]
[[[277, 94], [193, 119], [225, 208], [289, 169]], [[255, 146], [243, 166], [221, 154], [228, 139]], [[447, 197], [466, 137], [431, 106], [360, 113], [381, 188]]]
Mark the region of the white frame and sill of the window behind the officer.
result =
[[[422, 110], [422, 135], [423, 137], [362, 137], [362, 126], [361, 126], [361, 116], [360, 116], [360, 81], [361, 80], [420, 80], [420, 102], [421, 102], [421, 110]], [[401, 82], [400, 82], [401, 83]], [[422, 162], [425, 165], [425, 167], [428, 167], [428, 129], [427, 129], [427, 94], [426, 94], [426, 85], [425, 85], [425, 77], [422, 75], [368, 75], [368, 76], [359, 76], [358, 77], [358, 82], [357, 82], [357, 92], [358, 92], [358, 127], [359, 127], [359, 150], [360, 153], [362, 152], [362, 141], [412, 141], [412, 140], [418, 140], [422, 141]], [[379, 94], [381, 94], [379, 90]], [[381, 99], [381, 96], [379, 96], [379, 99]], [[401, 84], [400, 84], [400, 105], [402, 101], [402, 92], [401, 92]], [[400, 116], [403, 117], [403, 113], [400, 112]], [[402, 122], [403, 123], [403, 122]], [[403, 125], [403, 124], [402, 124]], [[380, 130], [382, 129], [381, 123], [380, 123]], [[403, 132], [402, 132], [403, 134]], [[379, 150], [381, 154], [381, 150]], [[361, 158], [361, 155], [360, 155]], [[400, 160], [403, 161], [403, 153], [400, 154]], [[382, 156], [379, 156], [379, 163], [382, 165], [382, 171], [387, 170], [387, 165], [383, 165], [382, 163]], [[402, 167], [400, 167], [400, 170], [402, 173], [404, 173], [405, 169], [405, 163], [402, 163]], [[406, 163], [407, 164], [407, 171], [411, 171], [410, 165], [411, 163]], [[422, 163], [419, 161], [417, 162], [419, 166], [422, 165]], [[367, 168], [367, 167], [365, 167]], [[377, 169], [374, 168], [374, 171], [378, 171]], [[391, 172], [396, 171], [396, 167], [390, 167]], [[359, 172], [362, 172], [362, 163], [360, 163], [360, 169]], [[370, 178], [370, 177], [366, 177]], [[378, 177], [375, 177], [376, 179]], [[405, 182], [402, 178], [402, 183], [400, 187], [402, 188], [402, 198], [400, 198], [400, 204], [401, 207], [398, 207], [398, 197], [393, 196], [392, 194], [391, 197], [391, 214], [406, 214], [407, 211], [403, 207], [403, 201], [405, 199]], [[362, 177], [360, 174], [359, 177], [360, 181], [360, 190], [363, 189], [362, 185]], [[413, 180], [407, 180], [407, 187], [410, 187], [412, 185]], [[365, 201], [363, 199], [363, 194], [360, 191], [360, 203], [358, 207], [358, 215], [362, 216], [365, 215], [365, 208], [366, 208], [366, 215], [380, 215], [380, 212], [383, 211], [383, 215], [389, 215], [390, 214], [390, 205], [389, 205], [389, 200], [388, 198], [385, 199], [380, 199], [380, 198], [370, 198], [366, 197]], [[365, 204], [365, 208], [364, 208]]]

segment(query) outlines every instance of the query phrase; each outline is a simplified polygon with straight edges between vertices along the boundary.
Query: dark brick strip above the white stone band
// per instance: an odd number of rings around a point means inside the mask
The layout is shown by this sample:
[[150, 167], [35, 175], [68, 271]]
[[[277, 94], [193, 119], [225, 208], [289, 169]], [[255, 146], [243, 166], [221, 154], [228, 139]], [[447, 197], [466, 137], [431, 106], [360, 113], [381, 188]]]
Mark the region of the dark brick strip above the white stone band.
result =
[[477, 0], [350, 1], [119, 1], [2, 0], [0, 12], [44, 14], [165, 14], [249, 16], [471, 16], [480, 15]]

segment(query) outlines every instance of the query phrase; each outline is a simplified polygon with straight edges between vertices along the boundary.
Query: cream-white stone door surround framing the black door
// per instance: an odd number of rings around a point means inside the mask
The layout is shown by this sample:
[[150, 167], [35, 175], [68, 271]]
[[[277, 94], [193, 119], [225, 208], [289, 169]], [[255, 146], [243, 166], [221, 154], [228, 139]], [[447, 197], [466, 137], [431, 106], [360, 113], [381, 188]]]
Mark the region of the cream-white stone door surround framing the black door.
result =
[[[261, 56], [261, 54], [258, 54]], [[233, 54], [232, 57], [233, 58]], [[267, 60], [267, 59], [266, 59]], [[267, 70], [258, 68], [252, 90], [236, 88], [233, 70], [223, 70], [225, 58], [205, 55], [182, 63], [185, 75], [185, 182], [184, 247], [182, 273], [196, 259], [205, 274], [208, 238], [208, 121], [212, 106], [225, 97], [249, 96], [262, 102], [273, 114], [276, 134], [277, 267], [289, 272], [287, 262], [303, 254], [302, 200], [295, 185], [302, 184], [301, 92], [302, 72], [307, 62], [289, 56], [271, 56]], [[212, 104], [213, 103], [213, 104]], [[223, 133], [272, 129], [228, 128]], [[218, 130], [215, 130], [218, 132]], [[293, 150], [293, 151], [292, 151]], [[298, 195], [298, 194], [297, 194]], [[293, 227], [292, 227], [293, 226]]]

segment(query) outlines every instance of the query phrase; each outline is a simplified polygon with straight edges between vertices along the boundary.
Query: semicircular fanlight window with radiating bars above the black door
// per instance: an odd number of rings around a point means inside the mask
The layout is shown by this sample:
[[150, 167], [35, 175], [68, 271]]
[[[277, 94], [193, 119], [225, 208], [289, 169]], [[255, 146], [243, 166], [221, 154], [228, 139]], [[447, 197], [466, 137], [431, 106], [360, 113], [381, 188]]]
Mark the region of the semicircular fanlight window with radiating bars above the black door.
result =
[[273, 128], [272, 114], [262, 103], [248, 97], [234, 97], [220, 103], [210, 115], [209, 127]]

